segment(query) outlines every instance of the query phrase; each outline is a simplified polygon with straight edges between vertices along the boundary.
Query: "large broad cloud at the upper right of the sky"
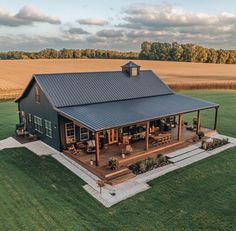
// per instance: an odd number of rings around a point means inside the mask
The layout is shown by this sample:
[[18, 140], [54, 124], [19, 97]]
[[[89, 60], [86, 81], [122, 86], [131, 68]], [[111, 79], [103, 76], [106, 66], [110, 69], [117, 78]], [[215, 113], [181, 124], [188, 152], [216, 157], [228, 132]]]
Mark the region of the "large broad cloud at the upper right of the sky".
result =
[[162, 29], [192, 26], [235, 24], [236, 15], [194, 13], [171, 5], [135, 6], [125, 10], [124, 23], [119, 26], [134, 29]]

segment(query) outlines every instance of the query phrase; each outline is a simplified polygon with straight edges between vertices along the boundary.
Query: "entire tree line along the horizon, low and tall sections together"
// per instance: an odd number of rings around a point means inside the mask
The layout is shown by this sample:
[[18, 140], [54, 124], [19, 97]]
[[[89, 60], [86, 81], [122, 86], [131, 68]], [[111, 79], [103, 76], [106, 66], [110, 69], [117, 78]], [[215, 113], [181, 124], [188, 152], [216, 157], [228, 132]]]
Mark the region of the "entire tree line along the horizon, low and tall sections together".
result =
[[47, 48], [39, 52], [0, 52], [0, 59], [144, 59], [199, 63], [236, 64], [236, 50], [206, 48], [195, 44], [143, 42], [140, 52], [122, 52], [102, 49]]

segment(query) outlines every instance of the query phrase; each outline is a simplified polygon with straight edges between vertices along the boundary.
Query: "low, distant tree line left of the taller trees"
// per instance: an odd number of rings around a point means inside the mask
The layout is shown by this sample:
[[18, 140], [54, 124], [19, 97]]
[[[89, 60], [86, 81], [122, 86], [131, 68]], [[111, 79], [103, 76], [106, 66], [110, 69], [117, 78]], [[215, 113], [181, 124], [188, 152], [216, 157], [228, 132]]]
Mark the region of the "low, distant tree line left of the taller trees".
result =
[[138, 59], [138, 52], [122, 52], [101, 49], [62, 49], [47, 48], [39, 52], [8, 51], [0, 52], [0, 59]]

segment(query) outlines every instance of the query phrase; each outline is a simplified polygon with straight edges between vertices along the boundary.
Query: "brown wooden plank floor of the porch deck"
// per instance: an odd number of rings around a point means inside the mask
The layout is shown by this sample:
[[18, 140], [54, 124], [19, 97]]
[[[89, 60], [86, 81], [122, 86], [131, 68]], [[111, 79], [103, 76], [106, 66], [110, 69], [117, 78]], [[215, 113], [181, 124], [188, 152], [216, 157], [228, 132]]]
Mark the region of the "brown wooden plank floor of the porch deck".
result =
[[[169, 131], [172, 135], [172, 141], [165, 145], [153, 145], [151, 141], [149, 141], [149, 150], [145, 150], [145, 140], [140, 140], [135, 143], [132, 143], [131, 146], [133, 148], [133, 152], [131, 154], [127, 154], [124, 159], [122, 159], [122, 149], [125, 149], [124, 144], [112, 144], [108, 145], [107, 148], [100, 149], [100, 161], [99, 166], [96, 165], [90, 165], [90, 160], [95, 161], [95, 154], [88, 154], [85, 150], [80, 150], [78, 155], [71, 155], [68, 153], [65, 153], [78, 163], [80, 163], [82, 166], [84, 166], [86, 169], [94, 173], [100, 178], [104, 178], [105, 175], [110, 174], [112, 172], [115, 172], [116, 170], [111, 170], [108, 166], [108, 160], [111, 157], [115, 157], [119, 160], [120, 163], [120, 169], [126, 168], [132, 163], [135, 163], [139, 160], [145, 159], [148, 156], [154, 156], [159, 153], [167, 154], [171, 151], [183, 148], [185, 146], [188, 146], [194, 137], [196, 137], [196, 132], [189, 131], [186, 129], [185, 126], [183, 126], [182, 129], [182, 136], [181, 140], [177, 141], [177, 131], [178, 128], [174, 128], [171, 131]], [[209, 132], [212, 132], [213, 130], [208, 128], [201, 128], [201, 131], [203, 131], [206, 135]]]

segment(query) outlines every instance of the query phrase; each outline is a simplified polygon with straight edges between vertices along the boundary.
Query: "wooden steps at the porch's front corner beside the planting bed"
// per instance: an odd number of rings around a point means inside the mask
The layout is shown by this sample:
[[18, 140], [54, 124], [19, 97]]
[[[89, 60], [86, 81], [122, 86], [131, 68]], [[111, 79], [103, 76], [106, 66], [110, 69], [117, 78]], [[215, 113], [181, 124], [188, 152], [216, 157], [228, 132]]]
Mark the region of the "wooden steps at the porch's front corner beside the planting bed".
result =
[[110, 185], [120, 184], [131, 178], [135, 177], [131, 170], [128, 168], [121, 169], [119, 171], [109, 173], [105, 175], [105, 181]]

